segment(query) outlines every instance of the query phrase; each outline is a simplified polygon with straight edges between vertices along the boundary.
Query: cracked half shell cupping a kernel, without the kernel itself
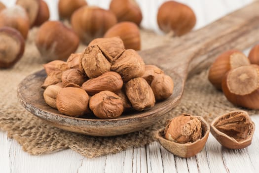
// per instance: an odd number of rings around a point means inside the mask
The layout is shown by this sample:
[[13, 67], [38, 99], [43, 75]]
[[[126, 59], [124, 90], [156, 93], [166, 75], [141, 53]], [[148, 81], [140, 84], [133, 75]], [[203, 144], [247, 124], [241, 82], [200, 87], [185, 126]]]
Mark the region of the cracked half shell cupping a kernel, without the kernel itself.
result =
[[[187, 114], [185, 114], [187, 115]], [[177, 143], [171, 140], [167, 140], [164, 136], [164, 128], [157, 130], [154, 134], [154, 138], [169, 152], [176, 156], [189, 158], [198, 154], [205, 146], [210, 134], [210, 125], [200, 116], [197, 117], [201, 121], [202, 137], [191, 143]]]

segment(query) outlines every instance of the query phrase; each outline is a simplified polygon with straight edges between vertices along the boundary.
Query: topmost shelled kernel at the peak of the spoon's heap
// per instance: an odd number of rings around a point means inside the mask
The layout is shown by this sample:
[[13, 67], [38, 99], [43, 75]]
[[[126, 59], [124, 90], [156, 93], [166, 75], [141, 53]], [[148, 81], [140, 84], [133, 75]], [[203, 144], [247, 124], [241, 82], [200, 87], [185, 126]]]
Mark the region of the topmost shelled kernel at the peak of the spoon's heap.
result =
[[98, 38], [92, 40], [88, 46], [97, 45], [106, 58], [111, 62], [119, 53], [125, 50], [123, 41], [119, 37]]

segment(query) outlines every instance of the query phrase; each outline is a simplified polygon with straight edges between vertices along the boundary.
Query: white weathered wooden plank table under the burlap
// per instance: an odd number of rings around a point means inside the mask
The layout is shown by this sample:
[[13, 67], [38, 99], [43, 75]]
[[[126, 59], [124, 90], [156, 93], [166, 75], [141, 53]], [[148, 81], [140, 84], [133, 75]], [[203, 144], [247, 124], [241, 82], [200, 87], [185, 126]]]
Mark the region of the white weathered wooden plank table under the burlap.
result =
[[[15, 0], [0, 0], [8, 6]], [[46, 0], [51, 19], [57, 19], [57, 0]], [[157, 6], [165, 0], [138, 0], [144, 13], [142, 26], [158, 32]], [[231, 12], [252, 0], [179, 0], [190, 5], [197, 15], [196, 29]], [[108, 8], [109, 0], [88, 0]], [[31, 156], [22, 151], [6, 132], [0, 131], [0, 173], [258, 173], [259, 115], [252, 115], [256, 124], [252, 144], [240, 150], [223, 148], [210, 134], [205, 148], [195, 157], [182, 159], [153, 142], [145, 147], [128, 148], [117, 154], [87, 159], [68, 149], [53, 154]]]

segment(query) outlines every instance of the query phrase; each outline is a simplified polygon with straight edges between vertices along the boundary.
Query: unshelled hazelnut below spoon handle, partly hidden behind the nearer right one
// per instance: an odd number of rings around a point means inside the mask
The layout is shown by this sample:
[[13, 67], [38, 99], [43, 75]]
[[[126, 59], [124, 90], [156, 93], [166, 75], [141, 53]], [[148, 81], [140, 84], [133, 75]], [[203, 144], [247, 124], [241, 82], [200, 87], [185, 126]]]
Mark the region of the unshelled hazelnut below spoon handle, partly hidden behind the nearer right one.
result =
[[213, 62], [209, 70], [208, 79], [214, 87], [222, 89], [222, 79], [229, 70], [249, 64], [248, 58], [242, 52], [235, 49], [228, 50], [219, 55]]

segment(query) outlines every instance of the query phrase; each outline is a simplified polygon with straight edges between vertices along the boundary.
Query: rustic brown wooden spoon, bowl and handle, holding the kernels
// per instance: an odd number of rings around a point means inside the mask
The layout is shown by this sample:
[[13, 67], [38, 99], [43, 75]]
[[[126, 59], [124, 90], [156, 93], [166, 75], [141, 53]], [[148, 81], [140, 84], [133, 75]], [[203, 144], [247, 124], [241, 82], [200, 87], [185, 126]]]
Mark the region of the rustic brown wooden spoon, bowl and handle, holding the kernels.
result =
[[18, 99], [28, 111], [64, 130], [96, 136], [142, 130], [162, 119], [180, 102], [187, 74], [192, 75], [208, 67], [223, 51], [232, 48], [243, 50], [259, 41], [258, 9], [259, 1], [253, 2], [202, 29], [174, 38], [170, 44], [140, 51], [147, 64], [158, 65], [173, 78], [175, 84], [173, 95], [148, 111], [123, 114], [111, 120], [62, 115], [43, 99], [40, 86], [46, 78], [44, 70], [28, 76], [19, 84]]

